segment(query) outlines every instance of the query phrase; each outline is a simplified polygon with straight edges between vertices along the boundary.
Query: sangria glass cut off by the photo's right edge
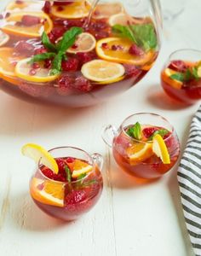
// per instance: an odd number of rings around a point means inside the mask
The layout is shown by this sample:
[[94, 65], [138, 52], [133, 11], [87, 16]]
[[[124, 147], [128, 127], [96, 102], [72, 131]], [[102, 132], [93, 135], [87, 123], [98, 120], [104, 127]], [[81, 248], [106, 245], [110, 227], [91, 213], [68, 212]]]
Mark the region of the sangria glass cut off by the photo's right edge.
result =
[[180, 49], [169, 56], [161, 73], [164, 91], [179, 102], [201, 99], [201, 51]]

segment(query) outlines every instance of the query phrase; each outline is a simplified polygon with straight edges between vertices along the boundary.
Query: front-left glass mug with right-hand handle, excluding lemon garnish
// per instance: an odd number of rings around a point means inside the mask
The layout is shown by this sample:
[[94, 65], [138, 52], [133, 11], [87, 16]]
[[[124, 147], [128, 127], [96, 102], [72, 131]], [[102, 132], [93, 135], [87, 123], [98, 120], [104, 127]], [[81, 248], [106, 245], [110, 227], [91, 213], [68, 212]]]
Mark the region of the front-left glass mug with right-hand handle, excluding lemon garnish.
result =
[[103, 188], [101, 169], [103, 157], [88, 154], [80, 148], [60, 147], [49, 150], [56, 159], [74, 158], [91, 165], [92, 171], [77, 181], [60, 182], [46, 177], [40, 161], [30, 181], [30, 194], [33, 201], [43, 212], [62, 220], [71, 221], [95, 206]]

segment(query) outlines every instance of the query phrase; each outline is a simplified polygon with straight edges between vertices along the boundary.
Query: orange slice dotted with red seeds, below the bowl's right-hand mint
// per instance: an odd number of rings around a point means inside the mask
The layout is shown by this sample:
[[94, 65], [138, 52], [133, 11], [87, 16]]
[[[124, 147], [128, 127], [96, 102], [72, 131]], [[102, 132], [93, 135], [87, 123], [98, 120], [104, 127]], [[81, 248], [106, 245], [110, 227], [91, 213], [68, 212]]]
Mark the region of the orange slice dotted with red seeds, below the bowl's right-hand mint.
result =
[[[102, 47], [103, 44], [107, 48]], [[122, 49], [112, 50], [112, 45], [121, 45]], [[148, 61], [152, 60], [154, 52], [152, 50], [146, 52], [144, 55], [130, 55], [129, 48], [132, 42], [125, 38], [103, 38], [96, 44], [96, 53], [101, 59], [106, 61], [115, 61], [118, 63], [133, 64], [136, 66], [145, 65]]]

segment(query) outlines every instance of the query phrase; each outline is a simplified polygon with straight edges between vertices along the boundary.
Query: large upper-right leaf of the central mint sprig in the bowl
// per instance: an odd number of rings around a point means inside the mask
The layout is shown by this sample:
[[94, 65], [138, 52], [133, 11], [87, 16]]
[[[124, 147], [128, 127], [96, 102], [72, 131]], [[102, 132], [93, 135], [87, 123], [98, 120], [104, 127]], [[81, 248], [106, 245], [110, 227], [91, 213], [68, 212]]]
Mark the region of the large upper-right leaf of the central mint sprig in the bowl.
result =
[[83, 29], [78, 26], [72, 26], [70, 30], [64, 33], [63, 38], [56, 45], [57, 50], [62, 53], [66, 53], [66, 50], [75, 43], [76, 38], [83, 32]]

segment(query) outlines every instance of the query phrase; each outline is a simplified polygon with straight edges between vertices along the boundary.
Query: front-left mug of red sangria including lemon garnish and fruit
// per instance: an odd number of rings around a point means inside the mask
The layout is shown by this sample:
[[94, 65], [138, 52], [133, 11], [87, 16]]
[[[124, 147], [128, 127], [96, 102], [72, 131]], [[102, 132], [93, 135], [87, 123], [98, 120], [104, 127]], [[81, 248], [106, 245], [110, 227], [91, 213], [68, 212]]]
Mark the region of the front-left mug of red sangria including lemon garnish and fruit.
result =
[[[38, 153], [37, 147], [27, 144], [23, 152], [30, 156], [30, 152]], [[39, 152], [40, 156], [43, 155], [40, 149]], [[37, 207], [52, 217], [66, 221], [79, 218], [89, 212], [100, 198], [102, 157], [100, 154], [90, 156], [79, 148], [71, 147], [54, 148], [49, 150], [49, 154], [54, 158], [49, 160], [47, 155], [42, 156], [31, 178], [32, 199]], [[55, 164], [49, 164], [53, 160]]]

